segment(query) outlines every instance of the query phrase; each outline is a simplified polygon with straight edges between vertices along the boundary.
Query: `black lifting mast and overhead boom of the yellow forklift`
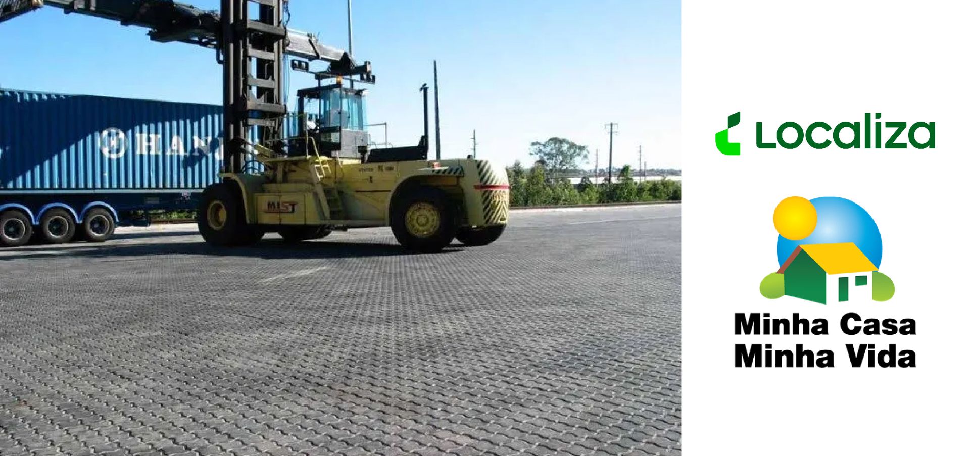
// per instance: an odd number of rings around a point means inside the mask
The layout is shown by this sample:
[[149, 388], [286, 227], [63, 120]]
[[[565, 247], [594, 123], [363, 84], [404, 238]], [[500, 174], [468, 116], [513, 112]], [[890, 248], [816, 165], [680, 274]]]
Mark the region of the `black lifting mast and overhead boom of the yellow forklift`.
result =
[[[372, 79], [370, 62], [357, 65], [341, 50], [321, 45], [312, 34], [291, 30], [283, 16], [288, 0], [221, 0], [221, 11], [205, 11], [174, 0], [0, 0], [0, 22], [44, 6], [137, 25], [161, 43], [216, 49], [222, 64], [223, 167], [242, 172], [250, 126], [264, 143], [280, 140], [286, 114], [282, 95], [283, 54], [330, 64], [328, 74]], [[250, 10], [250, 7], [254, 7]]]

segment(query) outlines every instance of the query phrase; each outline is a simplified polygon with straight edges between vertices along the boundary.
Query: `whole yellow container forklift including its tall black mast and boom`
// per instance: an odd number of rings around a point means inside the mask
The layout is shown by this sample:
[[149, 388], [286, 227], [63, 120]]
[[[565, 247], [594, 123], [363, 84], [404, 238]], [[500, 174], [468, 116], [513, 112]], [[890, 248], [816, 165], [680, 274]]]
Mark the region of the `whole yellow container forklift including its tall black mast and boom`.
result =
[[[441, 250], [495, 242], [508, 223], [505, 170], [488, 160], [429, 159], [424, 134], [413, 147], [372, 148], [363, 121], [370, 62], [288, 27], [288, 0], [222, 0], [219, 12], [173, 0], [0, 0], [0, 22], [50, 6], [149, 29], [157, 42], [216, 50], [223, 70], [222, 181], [207, 187], [197, 212], [207, 243], [255, 244], [266, 233], [286, 242], [334, 230], [390, 226], [405, 249]], [[317, 84], [283, 99], [290, 70]], [[322, 61], [326, 70], [313, 71]], [[349, 86], [348, 86], [349, 82]]]

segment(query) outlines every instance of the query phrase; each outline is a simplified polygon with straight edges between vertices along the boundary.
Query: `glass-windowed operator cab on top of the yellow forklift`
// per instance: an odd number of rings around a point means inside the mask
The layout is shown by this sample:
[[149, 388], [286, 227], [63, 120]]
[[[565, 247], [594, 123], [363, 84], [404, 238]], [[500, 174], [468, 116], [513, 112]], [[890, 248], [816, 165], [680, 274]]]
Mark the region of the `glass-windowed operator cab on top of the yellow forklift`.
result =
[[366, 96], [367, 90], [339, 82], [297, 91], [296, 134], [288, 155], [363, 156], [369, 143]]

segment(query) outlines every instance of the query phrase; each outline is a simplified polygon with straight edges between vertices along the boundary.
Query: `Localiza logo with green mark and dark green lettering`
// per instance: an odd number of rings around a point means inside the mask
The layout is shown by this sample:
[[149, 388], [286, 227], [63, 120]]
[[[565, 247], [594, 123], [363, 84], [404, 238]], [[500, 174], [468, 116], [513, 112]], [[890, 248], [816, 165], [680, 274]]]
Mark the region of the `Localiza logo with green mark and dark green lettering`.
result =
[[[842, 121], [834, 126], [818, 121], [801, 126], [784, 122], [775, 129], [774, 142], [764, 138], [763, 122], [755, 123], [758, 148], [812, 148], [835, 145], [839, 148], [936, 148], [936, 122], [884, 121], [882, 113], [865, 113], [862, 121]], [[718, 150], [725, 155], [740, 155], [741, 145], [727, 140], [727, 130], [741, 122], [741, 113], [727, 116], [727, 128], [714, 135]], [[786, 138], [787, 136], [787, 138]]]

